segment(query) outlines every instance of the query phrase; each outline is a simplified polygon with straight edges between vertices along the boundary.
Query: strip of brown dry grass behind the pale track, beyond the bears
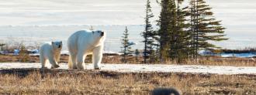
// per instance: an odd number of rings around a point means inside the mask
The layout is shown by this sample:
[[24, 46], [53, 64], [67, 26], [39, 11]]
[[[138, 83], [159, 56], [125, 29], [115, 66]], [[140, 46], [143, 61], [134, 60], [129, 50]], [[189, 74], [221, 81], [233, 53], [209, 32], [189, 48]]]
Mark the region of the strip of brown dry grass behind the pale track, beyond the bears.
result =
[[[0, 63], [15, 63], [20, 62], [20, 56], [8, 56], [0, 55]], [[102, 63], [123, 63], [121, 62], [121, 56], [104, 56]], [[61, 56], [61, 63], [67, 63], [68, 56]], [[142, 63], [142, 57], [139, 58], [139, 62], [135, 58], [128, 61], [128, 63]], [[29, 56], [26, 63], [39, 63], [39, 56]], [[92, 56], [88, 56], [85, 59], [85, 63], [92, 63]], [[180, 64], [176, 61], [167, 61], [166, 64]], [[198, 62], [186, 60], [180, 65], [207, 65], [207, 66], [256, 66], [256, 61], [251, 58], [222, 58], [218, 56], [201, 57]]]

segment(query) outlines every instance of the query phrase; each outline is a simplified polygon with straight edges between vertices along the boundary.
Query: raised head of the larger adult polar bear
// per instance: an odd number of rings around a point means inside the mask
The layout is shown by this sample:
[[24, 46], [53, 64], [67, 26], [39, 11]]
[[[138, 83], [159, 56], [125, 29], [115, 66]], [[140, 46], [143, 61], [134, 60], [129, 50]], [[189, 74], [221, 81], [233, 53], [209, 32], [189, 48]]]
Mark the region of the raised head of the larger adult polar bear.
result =
[[94, 38], [97, 38], [97, 41], [99, 43], [104, 42], [104, 40], [106, 39], [106, 32], [104, 32], [102, 30], [92, 31], [92, 34], [93, 34]]

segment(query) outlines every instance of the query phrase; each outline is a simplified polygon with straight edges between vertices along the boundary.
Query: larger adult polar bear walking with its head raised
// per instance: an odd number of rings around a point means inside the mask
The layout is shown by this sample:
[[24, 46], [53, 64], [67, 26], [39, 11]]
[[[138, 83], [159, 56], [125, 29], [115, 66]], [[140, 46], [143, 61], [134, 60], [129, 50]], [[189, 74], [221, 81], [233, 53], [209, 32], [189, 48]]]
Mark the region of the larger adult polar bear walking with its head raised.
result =
[[106, 32], [101, 30], [81, 30], [74, 32], [74, 34], [67, 39], [67, 49], [70, 53], [68, 68], [83, 70], [84, 66], [82, 64], [85, 61], [85, 57], [92, 53], [94, 68], [95, 70], [99, 70], [105, 39]]

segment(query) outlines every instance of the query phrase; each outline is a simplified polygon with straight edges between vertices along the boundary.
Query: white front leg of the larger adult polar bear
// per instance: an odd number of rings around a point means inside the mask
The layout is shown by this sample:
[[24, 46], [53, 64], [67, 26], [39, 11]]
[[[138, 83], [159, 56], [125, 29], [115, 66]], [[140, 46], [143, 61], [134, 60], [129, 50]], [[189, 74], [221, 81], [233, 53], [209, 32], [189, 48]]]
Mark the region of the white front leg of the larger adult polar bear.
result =
[[94, 64], [95, 70], [100, 70], [100, 63], [102, 62], [102, 48], [103, 46], [98, 46], [93, 49], [92, 53], [92, 63]]

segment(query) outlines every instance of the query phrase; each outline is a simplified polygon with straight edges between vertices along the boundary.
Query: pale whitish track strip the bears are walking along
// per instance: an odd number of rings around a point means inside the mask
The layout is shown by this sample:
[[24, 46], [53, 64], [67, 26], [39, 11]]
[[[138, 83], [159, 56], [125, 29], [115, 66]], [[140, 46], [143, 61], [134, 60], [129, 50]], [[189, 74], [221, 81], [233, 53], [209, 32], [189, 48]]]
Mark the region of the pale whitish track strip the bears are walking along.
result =
[[[58, 69], [67, 69], [67, 63], [61, 63]], [[87, 70], [92, 70], [92, 63], [84, 64]], [[14, 68], [40, 68], [40, 63], [0, 63], [0, 70]], [[47, 67], [50, 67], [48, 64]], [[102, 70], [122, 73], [164, 72], [164, 73], [212, 73], [212, 74], [256, 74], [254, 66], [192, 66], [164, 64], [109, 64], [102, 63]]]

